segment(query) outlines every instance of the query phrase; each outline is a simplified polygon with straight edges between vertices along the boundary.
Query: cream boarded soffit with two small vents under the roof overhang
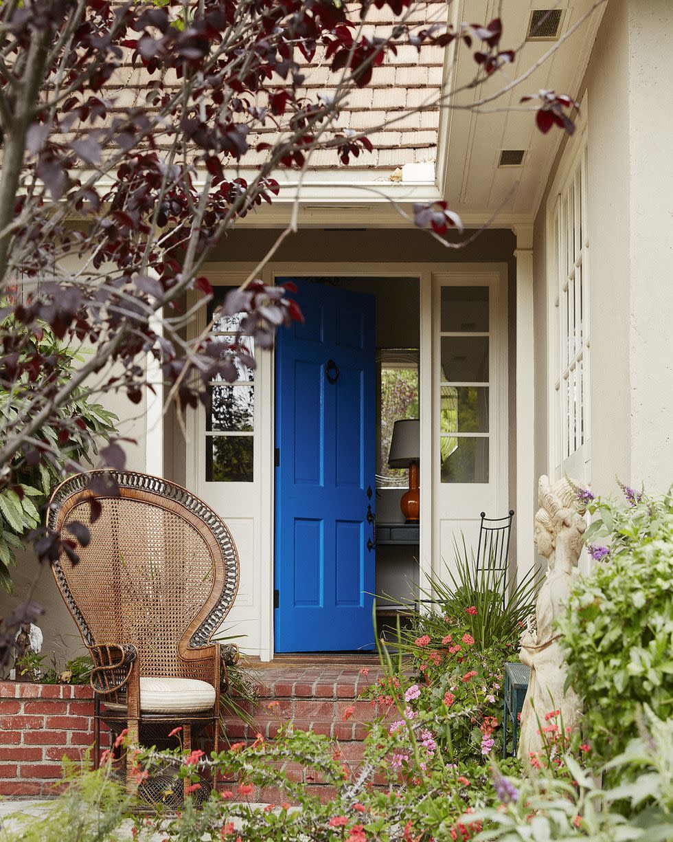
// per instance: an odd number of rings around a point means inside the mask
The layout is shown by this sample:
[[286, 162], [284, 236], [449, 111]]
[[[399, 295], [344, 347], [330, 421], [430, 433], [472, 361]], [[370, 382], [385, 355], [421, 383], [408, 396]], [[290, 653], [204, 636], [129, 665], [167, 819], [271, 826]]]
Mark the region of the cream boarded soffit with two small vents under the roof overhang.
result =
[[[501, 7], [501, 50], [506, 50], [521, 45], [526, 39], [533, 9], [562, 9], [560, 39], [593, 5], [594, 0], [562, 0], [560, 3], [554, 0], [507, 0], [506, 3], [461, 0], [457, 3], [460, 8], [454, 19], [488, 23]], [[547, 135], [543, 135], [535, 125], [533, 113], [510, 109], [520, 107], [522, 96], [537, 93], [541, 88], [568, 93], [577, 99], [604, 10], [605, 4], [599, 6], [543, 65], [500, 99], [483, 105], [482, 113], [460, 108], [446, 112], [440, 129], [437, 179], [452, 210], [466, 218], [483, 221], [496, 212], [501, 221], [533, 218], [563, 132], [553, 126]], [[553, 40], [526, 41], [518, 51], [515, 63], [507, 66], [504, 74], [496, 73], [477, 88], [458, 93], [453, 102], [466, 106], [497, 92], [533, 67], [555, 43]], [[450, 48], [448, 56], [450, 61]], [[475, 68], [472, 51], [460, 44], [458, 61], [449, 68], [453, 75], [453, 79], [449, 77], [451, 88], [469, 83]], [[522, 166], [498, 167], [502, 150], [523, 150]], [[494, 224], [497, 225], [497, 221]]]

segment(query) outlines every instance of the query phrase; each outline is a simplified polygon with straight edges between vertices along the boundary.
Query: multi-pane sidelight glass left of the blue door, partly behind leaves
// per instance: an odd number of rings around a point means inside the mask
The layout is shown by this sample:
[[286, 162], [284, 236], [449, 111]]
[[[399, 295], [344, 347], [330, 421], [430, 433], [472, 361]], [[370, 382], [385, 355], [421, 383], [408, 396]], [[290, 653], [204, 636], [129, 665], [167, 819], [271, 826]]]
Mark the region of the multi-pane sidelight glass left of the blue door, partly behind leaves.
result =
[[[218, 312], [231, 287], [216, 287], [208, 306], [212, 337], [227, 354], [238, 341], [247, 354], [254, 352], [252, 337], [238, 338], [241, 314]], [[215, 317], [216, 315], [216, 317]], [[215, 318], [214, 318], [215, 317]], [[255, 431], [255, 370], [232, 360], [236, 379], [217, 376], [209, 384], [205, 413], [206, 482], [252, 482]]]

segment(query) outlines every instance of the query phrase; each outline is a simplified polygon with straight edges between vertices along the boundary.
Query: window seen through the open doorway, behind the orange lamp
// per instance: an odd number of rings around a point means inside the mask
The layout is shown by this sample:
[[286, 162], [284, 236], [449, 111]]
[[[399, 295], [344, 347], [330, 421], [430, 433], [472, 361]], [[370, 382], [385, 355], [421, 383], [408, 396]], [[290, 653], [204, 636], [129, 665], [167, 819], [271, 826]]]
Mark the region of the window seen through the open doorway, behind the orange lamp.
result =
[[407, 488], [407, 470], [390, 468], [388, 456], [395, 421], [418, 418], [418, 351], [382, 349], [379, 360], [381, 415], [376, 485], [377, 488]]

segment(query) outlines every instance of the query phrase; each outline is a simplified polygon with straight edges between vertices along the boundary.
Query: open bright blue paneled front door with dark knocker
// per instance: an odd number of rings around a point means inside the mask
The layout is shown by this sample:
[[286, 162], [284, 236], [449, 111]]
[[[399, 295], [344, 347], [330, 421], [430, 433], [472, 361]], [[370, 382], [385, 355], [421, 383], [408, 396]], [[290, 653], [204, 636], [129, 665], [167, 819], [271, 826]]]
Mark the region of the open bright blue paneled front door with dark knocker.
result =
[[306, 322], [276, 353], [276, 651], [372, 648], [374, 298], [296, 283]]

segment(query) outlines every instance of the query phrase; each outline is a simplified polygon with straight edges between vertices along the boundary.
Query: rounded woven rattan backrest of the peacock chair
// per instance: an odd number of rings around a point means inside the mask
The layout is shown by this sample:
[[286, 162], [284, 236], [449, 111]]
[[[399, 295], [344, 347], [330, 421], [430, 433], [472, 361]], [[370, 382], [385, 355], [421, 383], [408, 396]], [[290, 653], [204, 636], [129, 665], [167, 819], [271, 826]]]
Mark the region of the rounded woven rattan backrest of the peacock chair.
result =
[[[80, 561], [52, 565], [56, 582], [90, 644], [131, 643], [141, 674], [194, 675], [178, 645], [203, 646], [225, 618], [238, 587], [238, 556], [226, 526], [199, 498], [144, 474], [113, 474], [119, 495], [93, 493], [97, 473], [56, 489], [49, 525], [81, 521], [91, 541]], [[101, 514], [89, 524], [90, 499]]]

